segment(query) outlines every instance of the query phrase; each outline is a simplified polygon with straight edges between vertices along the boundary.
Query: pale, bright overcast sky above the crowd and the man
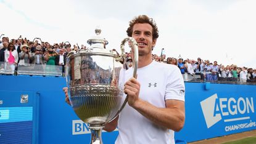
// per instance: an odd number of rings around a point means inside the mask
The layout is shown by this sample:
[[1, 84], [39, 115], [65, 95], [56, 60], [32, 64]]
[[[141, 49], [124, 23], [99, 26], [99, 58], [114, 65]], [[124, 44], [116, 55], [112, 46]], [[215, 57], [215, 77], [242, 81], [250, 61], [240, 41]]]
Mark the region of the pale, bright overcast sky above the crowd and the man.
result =
[[148, 15], [159, 28], [153, 54], [256, 68], [255, 0], [0, 0], [0, 34], [87, 47], [96, 26], [120, 49], [128, 22]]

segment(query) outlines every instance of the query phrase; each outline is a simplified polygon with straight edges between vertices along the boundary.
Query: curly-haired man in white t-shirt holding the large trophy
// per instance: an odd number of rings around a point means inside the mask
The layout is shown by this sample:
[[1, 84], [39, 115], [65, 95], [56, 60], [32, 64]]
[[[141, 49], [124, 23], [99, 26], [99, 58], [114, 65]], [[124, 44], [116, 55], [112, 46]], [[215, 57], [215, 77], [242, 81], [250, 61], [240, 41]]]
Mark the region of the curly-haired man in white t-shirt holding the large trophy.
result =
[[[138, 43], [137, 77], [131, 78], [128, 70], [123, 90], [128, 105], [117, 118], [105, 124], [104, 130], [111, 132], [118, 126], [115, 143], [175, 143], [174, 131], [183, 128], [185, 119], [185, 87], [180, 70], [152, 60], [159, 37], [152, 18], [135, 17], [126, 32]], [[64, 92], [70, 104], [67, 87]]]

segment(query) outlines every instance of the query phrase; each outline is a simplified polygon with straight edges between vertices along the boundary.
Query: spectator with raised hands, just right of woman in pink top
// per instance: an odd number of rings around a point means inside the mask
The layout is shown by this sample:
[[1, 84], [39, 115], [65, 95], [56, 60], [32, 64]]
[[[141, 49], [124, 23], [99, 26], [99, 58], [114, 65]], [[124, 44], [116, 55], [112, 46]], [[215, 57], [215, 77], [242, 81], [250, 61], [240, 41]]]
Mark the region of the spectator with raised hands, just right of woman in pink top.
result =
[[30, 61], [32, 60], [32, 55], [30, 53], [30, 49], [27, 44], [21, 46], [22, 52], [20, 52], [20, 62], [19, 62], [19, 70], [21, 67], [30, 66]]

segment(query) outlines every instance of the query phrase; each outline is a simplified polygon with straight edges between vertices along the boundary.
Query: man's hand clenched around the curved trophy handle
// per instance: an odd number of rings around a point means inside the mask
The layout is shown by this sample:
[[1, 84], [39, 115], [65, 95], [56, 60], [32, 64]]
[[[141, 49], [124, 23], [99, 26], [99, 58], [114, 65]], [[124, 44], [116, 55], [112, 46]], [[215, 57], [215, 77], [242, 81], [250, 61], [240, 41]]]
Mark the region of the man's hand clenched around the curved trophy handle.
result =
[[131, 78], [125, 83], [125, 94], [128, 96], [128, 104], [130, 106], [135, 106], [136, 102], [139, 100], [139, 90], [141, 89], [141, 84], [135, 79]]

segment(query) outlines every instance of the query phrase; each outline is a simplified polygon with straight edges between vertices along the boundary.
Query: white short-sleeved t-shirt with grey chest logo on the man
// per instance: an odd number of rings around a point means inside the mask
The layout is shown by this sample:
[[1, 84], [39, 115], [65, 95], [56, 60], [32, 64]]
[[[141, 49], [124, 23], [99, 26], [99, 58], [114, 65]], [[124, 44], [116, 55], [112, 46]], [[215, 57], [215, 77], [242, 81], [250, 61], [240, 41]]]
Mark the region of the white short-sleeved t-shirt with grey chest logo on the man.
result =
[[[141, 84], [139, 98], [165, 108], [165, 100], [184, 101], [184, 81], [178, 66], [153, 62], [138, 69]], [[126, 72], [126, 81], [132, 77], [133, 68]], [[126, 104], [118, 119], [119, 135], [116, 144], [175, 143], [174, 132], [157, 126]]]

